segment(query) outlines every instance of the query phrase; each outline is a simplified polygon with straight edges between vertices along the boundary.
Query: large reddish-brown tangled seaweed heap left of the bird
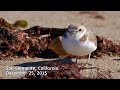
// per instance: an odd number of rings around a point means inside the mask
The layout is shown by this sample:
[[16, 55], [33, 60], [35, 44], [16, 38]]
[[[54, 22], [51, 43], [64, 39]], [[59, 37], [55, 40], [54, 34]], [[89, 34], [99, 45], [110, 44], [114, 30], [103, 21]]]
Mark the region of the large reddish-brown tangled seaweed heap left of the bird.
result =
[[[54, 52], [47, 50], [47, 45], [50, 42], [50, 37], [39, 37], [38, 31], [44, 32], [44, 28], [33, 27], [31, 30], [19, 30], [7, 23], [4, 19], [0, 19], [0, 58], [14, 57], [14, 56], [29, 56], [29, 57], [58, 57]], [[27, 32], [35, 30], [35, 33]], [[46, 29], [45, 29], [46, 30]], [[45, 34], [44, 32], [43, 34]], [[31, 35], [33, 34], [33, 35]], [[38, 37], [36, 36], [38, 35]], [[48, 53], [49, 52], [49, 53]], [[52, 55], [49, 54], [53, 53]]]

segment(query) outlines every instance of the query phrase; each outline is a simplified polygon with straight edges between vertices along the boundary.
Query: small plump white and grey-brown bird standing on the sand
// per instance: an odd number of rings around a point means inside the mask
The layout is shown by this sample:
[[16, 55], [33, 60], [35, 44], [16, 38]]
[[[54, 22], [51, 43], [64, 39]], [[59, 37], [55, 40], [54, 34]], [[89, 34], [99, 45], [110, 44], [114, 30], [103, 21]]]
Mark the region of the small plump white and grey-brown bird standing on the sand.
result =
[[68, 54], [74, 56], [89, 55], [88, 64], [91, 53], [97, 49], [97, 39], [94, 33], [87, 30], [83, 25], [69, 25], [61, 41], [63, 49]]

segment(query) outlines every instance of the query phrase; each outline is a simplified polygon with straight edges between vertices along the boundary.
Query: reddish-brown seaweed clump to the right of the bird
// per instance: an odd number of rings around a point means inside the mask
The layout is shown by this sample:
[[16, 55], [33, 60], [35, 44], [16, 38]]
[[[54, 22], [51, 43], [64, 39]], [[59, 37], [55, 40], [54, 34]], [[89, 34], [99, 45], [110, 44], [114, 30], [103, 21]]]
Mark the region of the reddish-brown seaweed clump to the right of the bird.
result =
[[97, 50], [92, 53], [92, 56], [102, 56], [102, 55], [118, 55], [120, 56], [120, 45], [112, 42], [101, 36], [96, 36], [97, 38]]

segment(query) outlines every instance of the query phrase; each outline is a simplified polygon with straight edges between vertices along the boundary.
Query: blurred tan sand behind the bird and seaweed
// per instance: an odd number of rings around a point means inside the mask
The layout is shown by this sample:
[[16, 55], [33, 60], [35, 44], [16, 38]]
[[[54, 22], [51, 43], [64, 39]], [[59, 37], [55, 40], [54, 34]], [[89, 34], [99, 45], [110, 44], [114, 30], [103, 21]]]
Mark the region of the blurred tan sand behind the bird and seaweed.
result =
[[66, 28], [80, 23], [97, 35], [120, 43], [120, 11], [0, 11], [0, 17], [9, 23], [26, 20], [28, 27]]

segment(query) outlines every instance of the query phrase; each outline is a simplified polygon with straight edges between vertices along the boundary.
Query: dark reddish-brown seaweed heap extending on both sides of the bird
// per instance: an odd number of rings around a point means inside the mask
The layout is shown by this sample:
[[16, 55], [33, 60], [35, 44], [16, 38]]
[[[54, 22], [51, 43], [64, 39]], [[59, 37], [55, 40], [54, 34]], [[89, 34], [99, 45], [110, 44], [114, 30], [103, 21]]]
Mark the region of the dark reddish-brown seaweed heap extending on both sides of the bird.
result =
[[[48, 49], [48, 45], [54, 38], [62, 36], [67, 28], [49, 28], [34, 26], [26, 30], [19, 30], [4, 19], [0, 19], [0, 59], [5, 57], [44, 57], [57, 58], [58, 55]], [[120, 55], [120, 45], [96, 36], [98, 48], [92, 53], [92, 57], [104, 54]]]

